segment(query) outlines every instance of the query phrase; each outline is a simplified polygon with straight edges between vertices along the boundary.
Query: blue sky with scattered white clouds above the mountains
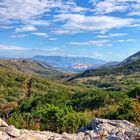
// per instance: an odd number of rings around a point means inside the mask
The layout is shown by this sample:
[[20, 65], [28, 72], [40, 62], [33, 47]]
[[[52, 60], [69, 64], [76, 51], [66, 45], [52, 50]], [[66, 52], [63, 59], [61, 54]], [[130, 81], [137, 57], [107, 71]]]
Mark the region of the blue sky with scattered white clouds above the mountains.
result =
[[121, 61], [140, 51], [140, 0], [0, 0], [0, 56]]

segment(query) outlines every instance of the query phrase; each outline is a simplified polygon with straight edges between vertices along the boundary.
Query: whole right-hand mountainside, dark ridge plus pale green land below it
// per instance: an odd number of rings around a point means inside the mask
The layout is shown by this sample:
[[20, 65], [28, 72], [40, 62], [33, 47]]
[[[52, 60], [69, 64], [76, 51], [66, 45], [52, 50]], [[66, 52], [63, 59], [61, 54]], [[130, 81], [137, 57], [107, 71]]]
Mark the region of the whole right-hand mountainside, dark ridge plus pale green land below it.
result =
[[[138, 54], [127, 58], [117, 66], [87, 70], [84, 73], [71, 77], [68, 81], [96, 86], [106, 90], [129, 90], [140, 84], [140, 60]], [[136, 56], [137, 60], [132, 61]]]

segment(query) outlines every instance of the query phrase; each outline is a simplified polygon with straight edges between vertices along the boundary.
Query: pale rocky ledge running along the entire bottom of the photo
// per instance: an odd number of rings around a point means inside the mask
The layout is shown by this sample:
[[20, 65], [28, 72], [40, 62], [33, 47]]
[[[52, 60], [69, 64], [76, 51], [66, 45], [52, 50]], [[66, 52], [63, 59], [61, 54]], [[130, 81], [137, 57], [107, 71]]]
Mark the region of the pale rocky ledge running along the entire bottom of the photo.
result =
[[16, 129], [0, 119], [0, 140], [140, 140], [140, 129], [126, 120], [94, 118], [76, 134]]

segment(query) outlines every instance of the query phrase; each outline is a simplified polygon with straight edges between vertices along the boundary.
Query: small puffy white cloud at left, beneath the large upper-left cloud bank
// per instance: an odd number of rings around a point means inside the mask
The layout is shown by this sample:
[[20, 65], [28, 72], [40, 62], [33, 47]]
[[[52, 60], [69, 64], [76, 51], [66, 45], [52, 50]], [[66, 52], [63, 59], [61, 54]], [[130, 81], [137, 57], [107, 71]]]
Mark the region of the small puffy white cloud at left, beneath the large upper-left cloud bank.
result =
[[16, 32], [31, 32], [31, 31], [36, 31], [37, 28], [32, 25], [25, 25], [23, 27], [19, 27], [16, 29]]

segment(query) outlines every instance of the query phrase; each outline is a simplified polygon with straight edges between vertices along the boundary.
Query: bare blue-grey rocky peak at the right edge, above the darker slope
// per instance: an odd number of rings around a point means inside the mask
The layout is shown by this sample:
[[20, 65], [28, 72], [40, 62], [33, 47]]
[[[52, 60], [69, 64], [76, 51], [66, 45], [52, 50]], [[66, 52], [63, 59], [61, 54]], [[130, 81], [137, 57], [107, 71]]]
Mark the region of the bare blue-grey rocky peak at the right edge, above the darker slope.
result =
[[122, 61], [119, 66], [128, 65], [140, 60], [140, 51]]

